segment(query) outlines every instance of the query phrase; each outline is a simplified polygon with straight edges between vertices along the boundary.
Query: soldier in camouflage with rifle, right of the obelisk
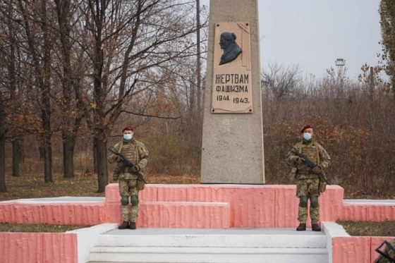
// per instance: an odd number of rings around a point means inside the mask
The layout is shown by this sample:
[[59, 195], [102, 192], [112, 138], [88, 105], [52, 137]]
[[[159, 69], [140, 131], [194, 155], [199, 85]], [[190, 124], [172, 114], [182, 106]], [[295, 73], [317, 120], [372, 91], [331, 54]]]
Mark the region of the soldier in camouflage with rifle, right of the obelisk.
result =
[[298, 221], [300, 224], [296, 230], [306, 230], [308, 200], [310, 199], [312, 231], [321, 231], [320, 226], [318, 226], [318, 221], [320, 221], [320, 204], [318, 203], [318, 197], [320, 196], [320, 192], [324, 191], [324, 188], [320, 185], [324, 184], [324, 181], [320, 181], [320, 177], [317, 173], [320, 173], [323, 169], [329, 168], [332, 161], [324, 147], [322, 147], [318, 142], [315, 142], [315, 140], [312, 140], [314, 133], [312, 132], [311, 125], [304, 126], [300, 132], [303, 135], [303, 140], [294, 146], [295, 149], [297, 149], [300, 154], [304, 154], [308, 157], [310, 161], [318, 165], [313, 169], [308, 167], [305, 173], [300, 173], [305, 165], [305, 160], [298, 157], [291, 151], [286, 155], [286, 164], [297, 169], [296, 196], [299, 198]]

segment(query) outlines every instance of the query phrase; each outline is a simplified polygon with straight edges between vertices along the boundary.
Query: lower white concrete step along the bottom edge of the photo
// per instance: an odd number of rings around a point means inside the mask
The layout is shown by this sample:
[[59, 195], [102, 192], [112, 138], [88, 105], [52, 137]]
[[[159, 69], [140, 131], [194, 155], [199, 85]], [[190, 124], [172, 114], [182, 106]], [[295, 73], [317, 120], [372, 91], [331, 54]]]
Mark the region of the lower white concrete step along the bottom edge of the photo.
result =
[[326, 248], [97, 247], [90, 262], [328, 262]]

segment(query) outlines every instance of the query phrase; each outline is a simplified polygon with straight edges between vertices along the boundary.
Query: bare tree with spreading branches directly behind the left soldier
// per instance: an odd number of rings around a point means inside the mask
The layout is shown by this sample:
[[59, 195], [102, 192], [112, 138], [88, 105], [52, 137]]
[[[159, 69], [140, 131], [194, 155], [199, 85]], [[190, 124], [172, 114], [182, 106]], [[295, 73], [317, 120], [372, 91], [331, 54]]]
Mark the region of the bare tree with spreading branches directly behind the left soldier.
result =
[[[107, 137], [124, 105], [138, 94], [152, 92], [158, 68], [183, 56], [195, 56], [193, 2], [87, 1], [81, 2], [84, 32], [80, 42], [91, 61], [92, 85], [75, 96], [83, 104], [87, 125], [94, 135], [98, 192], [108, 183]], [[83, 34], [81, 34], [83, 35]], [[86, 93], [87, 92], [87, 93]], [[92, 99], [86, 99], [84, 94]], [[88, 96], [89, 95], [89, 96]], [[147, 107], [136, 109], [145, 114]]]

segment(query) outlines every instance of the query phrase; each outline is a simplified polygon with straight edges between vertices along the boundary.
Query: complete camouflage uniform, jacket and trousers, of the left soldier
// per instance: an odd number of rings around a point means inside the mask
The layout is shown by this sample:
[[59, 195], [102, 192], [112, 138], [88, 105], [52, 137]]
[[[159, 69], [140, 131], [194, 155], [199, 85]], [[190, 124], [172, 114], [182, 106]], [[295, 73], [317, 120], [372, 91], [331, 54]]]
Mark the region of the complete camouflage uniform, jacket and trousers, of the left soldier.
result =
[[[121, 147], [121, 151], [119, 148]], [[147, 148], [142, 142], [135, 140], [132, 138], [131, 140], [122, 140], [114, 145], [114, 148], [119, 151], [121, 154], [125, 154], [126, 158], [131, 161], [133, 164], [137, 164], [140, 166], [140, 169], [143, 169], [147, 166], [148, 161], [150, 160]], [[115, 154], [109, 155], [109, 163], [114, 163], [116, 159]], [[117, 160], [117, 166], [114, 169], [114, 179], [119, 182], [119, 194], [121, 195], [121, 216], [122, 221], [135, 222], [138, 216], [138, 211], [140, 209], [140, 205], [138, 203], [138, 176], [135, 173], [131, 172], [129, 167], [125, 168], [125, 171], [121, 172], [122, 160]], [[129, 209], [129, 196], [132, 203], [132, 208]]]

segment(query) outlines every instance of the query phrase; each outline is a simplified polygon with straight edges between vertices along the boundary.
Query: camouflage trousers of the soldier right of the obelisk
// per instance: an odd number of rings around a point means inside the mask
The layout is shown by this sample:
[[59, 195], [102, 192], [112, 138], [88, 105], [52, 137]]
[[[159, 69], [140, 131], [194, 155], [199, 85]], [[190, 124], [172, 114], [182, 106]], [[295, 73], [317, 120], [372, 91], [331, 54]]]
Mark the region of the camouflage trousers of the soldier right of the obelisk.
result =
[[[320, 191], [318, 186], [320, 178], [308, 178], [298, 179], [296, 184], [296, 196], [297, 197], [308, 197], [310, 199], [310, 219], [312, 224], [317, 224], [320, 221], [320, 204], [317, 207], [311, 206], [311, 197], [319, 197]], [[318, 203], [318, 199], [317, 199]], [[308, 207], [298, 207], [298, 221], [301, 224], [305, 224], [308, 219]]]

